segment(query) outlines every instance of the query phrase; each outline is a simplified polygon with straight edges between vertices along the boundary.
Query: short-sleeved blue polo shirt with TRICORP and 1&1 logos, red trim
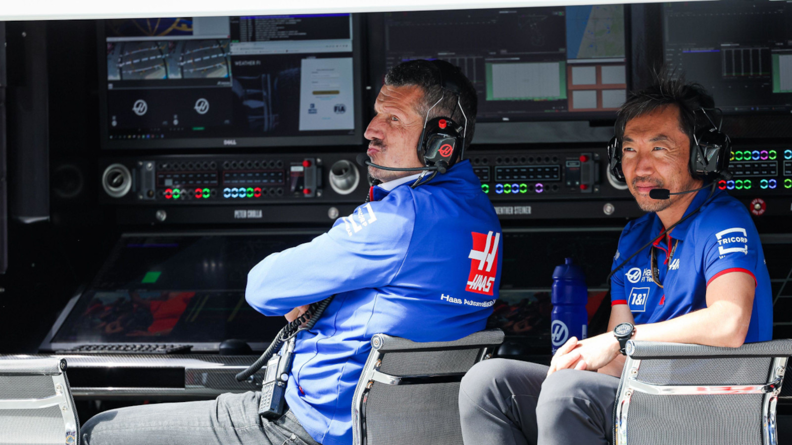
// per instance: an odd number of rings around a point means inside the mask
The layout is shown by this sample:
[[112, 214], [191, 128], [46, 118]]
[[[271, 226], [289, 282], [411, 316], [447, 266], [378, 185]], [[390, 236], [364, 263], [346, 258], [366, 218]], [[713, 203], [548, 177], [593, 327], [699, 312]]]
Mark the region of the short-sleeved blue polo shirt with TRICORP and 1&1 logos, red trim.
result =
[[[630, 221], [619, 238], [613, 268], [653, 238], [647, 247], [611, 278], [611, 304], [628, 304], [636, 324], [656, 323], [706, 307], [706, 287], [729, 272], [753, 276], [751, 324], [746, 343], [771, 340], [773, 302], [770, 276], [751, 216], [742, 203], [722, 190], [696, 193], [685, 215], [703, 203], [698, 215], [674, 227], [669, 237], [657, 238], [664, 230], [656, 213]], [[706, 202], [705, 202], [706, 201]], [[652, 280], [652, 251], [659, 272], [658, 286]]]

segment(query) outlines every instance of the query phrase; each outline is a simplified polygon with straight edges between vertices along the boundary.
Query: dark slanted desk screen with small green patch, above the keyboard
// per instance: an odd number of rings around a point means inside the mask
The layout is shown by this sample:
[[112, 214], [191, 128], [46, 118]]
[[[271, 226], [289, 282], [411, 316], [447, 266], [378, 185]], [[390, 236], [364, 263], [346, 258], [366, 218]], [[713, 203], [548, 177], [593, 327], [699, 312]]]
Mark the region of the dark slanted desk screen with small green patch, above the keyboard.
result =
[[268, 342], [285, 324], [245, 301], [247, 273], [317, 234], [124, 237], [53, 343]]

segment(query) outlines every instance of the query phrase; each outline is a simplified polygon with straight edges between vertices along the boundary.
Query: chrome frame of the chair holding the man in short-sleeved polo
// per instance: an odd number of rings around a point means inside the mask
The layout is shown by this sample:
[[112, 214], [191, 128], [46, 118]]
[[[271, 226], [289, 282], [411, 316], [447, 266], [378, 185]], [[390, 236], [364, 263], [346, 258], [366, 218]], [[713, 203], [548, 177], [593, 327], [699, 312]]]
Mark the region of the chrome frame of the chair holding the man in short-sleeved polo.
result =
[[[661, 357], [642, 357], [634, 358], [637, 343], [634, 340], [627, 341], [626, 344], [626, 361], [622, 373], [621, 382], [619, 382], [619, 393], [617, 394], [614, 406], [614, 445], [627, 445], [627, 414], [630, 411], [630, 399], [633, 394], [638, 391], [645, 394], [653, 395], [702, 395], [702, 394], [764, 394], [762, 403], [762, 436], [765, 445], [777, 445], [778, 438], [776, 435], [776, 416], [775, 409], [778, 402], [779, 394], [781, 393], [782, 381], [784, 372], [786, 371], [787, 360], [792, 350], [789, 350], [792, 340], [772, 340], [777, 343], [785, 342], [782, 346], [788, 349], [783, 356], [776, 355], [762, 355], [758, 353], [750, 353], [743, 355], [739, 352], [740, 348], [714, 348], [692, 344], [669, 344], [671, 347], [680, 346], [687, 349], [686, 352], [693, 352], [693, 355], [685, 353], [683, 356], [661, 356]], [[646, 347], [646, 345], [653, 342], [642, 341], [638, 342], [639, 347]], [[771, 342], [765, 342], [771, 343]], [[696, 348], [701, 349], [700, 354], [696, 354]], [[718, 353], [718, 350], [722, 354]], [[654, 385], [647, 382], [638, 380], [638, 371], [641, 368], [642, 359], [707, 359], [707, 358], [722, 358], [722, 357], [773, 357], [771, 369], [769, 370], [769, 377], [767, 382], [760, 385]]]

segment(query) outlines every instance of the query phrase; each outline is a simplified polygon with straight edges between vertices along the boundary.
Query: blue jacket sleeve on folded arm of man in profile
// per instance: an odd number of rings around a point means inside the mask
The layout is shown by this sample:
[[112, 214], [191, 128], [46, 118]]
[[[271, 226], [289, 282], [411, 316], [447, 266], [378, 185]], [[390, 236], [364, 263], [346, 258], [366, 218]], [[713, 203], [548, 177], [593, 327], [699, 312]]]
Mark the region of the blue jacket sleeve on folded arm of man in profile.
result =
[[356, 211], [313, 241], [256, 264], [248, 273], [249, 305], [261, 314], [284, 315], [339, 292], [390, 283], [406, 255], [414, 219], [399, 215], [391, 203], [371, 204], [371, 211], [359, 207], [362, 216]]

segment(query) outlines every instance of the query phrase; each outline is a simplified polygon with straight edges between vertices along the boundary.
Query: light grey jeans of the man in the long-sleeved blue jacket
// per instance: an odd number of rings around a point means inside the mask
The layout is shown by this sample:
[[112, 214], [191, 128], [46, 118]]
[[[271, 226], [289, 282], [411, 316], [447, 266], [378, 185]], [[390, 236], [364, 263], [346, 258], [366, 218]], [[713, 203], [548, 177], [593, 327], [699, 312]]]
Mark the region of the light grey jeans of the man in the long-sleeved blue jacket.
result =
[[291, 411], [275, 421], [258, 415], [261, 393], [221, 394], [215, 400], [111, 409], [82, 426], [85, 445], [319, 445]]

